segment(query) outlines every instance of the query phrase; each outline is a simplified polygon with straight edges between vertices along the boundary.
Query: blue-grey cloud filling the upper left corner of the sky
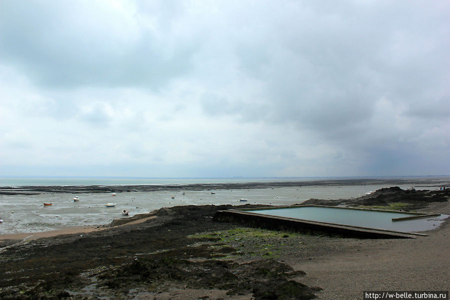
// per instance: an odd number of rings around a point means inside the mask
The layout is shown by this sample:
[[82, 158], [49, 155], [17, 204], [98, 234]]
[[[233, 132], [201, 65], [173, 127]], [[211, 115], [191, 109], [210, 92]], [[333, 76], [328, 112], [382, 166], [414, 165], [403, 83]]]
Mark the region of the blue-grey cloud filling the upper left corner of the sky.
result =
[[133, 27], [116, 36], [107, 27], [114, 20], [104, 24], [109, 16], [95, 20], [77, 4], [88, 3], [6, 2], [0, 16], [2, 57], [49, 87], [159, 89], [191, 68], [195, 46], [187, 41], [168, 46], [164, 34]]

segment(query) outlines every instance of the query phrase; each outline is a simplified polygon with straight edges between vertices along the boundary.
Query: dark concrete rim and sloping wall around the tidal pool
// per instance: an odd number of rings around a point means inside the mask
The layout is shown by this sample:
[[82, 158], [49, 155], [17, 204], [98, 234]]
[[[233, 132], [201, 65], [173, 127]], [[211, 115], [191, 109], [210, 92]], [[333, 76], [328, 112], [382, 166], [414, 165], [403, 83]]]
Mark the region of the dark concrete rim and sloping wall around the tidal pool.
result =
[[[310, 234], [326, 234], [331, 236], [343, 236], [343, 237], [358, 237], [358, 238], [415, 238], [416, 236], [426, 236], [424, 233], [416, 232], [402, 232], [387, 229], [368, 228], [352, 225], [333, 224], [322, 221], [310, 221], [291, 217], [281, 217], [272, 215], [263, 215], [250, 211], [255, 210], [269, 210], [280, 208], [295, 208], [295, 207], [327, 207], [324, 205], [292, 205], [292, 206], [269, 206], [259, 208], [242, 208], [242, 209], [229, 209], [219, 210], [214, 215], [214, 220], [225, 222], [238, 222], [245, 223], [249, 226], [261, 227], [267, 229], [296, 231]], [[381, 210], [381, 209], [367, 209], [356, 207], [339, 207], [332, 206], [332, 208], [341, 209], [356, 209], [367, 211], [382, 211], [382, 212], [398, 212], [395, 210]], [[403, 212], [403, 211], [402, 211]], [[407, 219], [422, 218], [438, 216], [440, 214], [422, 213], [422, 212], [403, 212], [410, 214], [411, 216], [392, 219], [392, 221], [402, 221]]]

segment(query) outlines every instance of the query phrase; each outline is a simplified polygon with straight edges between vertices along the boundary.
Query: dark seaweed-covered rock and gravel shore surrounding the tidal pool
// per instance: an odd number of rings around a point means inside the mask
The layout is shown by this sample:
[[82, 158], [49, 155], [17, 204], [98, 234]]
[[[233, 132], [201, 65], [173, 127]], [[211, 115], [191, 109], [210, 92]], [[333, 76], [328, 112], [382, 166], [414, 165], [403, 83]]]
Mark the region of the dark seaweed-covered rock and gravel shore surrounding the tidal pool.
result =
[[[450, 190], [393, 187], [332, 204], [450, 214], [449, 198]], [[0, 299], [362, 299], [363, 290], [449, 289], [448, 221], [401, 240], [213, 221], [217, 210], [249, 207], [177, 206], [103, 230], [0, 240]]]

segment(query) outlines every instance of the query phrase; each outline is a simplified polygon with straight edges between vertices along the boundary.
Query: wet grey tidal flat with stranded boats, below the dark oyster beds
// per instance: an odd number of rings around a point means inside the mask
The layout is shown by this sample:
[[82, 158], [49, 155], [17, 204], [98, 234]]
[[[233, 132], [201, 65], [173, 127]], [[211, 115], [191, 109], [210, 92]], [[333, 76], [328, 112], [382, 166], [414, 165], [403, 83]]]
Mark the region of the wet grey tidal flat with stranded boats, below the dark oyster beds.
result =
[[[252, 204], [293, 205], [310, 198], [355, 198], [368, 191], [394, 185], [403, 189], [418, 185], [436, 190], [445, 184], [445, 180], [449, 181], [450, 178], [421, 178], [420, 181], [413, 178], [382, 178], [159, 186], [0, 187], [0, 201], [3, 204], [0, 219], [4, 220], [0, 224], [0, 234], [106, 225], [120, 217], [124, 209], [134, 215], [177, 205], [239, 205], [242, 204], [240, 198], [248, 198], [247, 203]], [[386, 185], [386, 182], [390, 185]], [[212, 190], [216, 193], [212, 194]], [[113, 192], [116, 193], [115, 197], [112, 197]], [[12, 195], [15, 193], [18, 195]], [[80, 201], [74, 202], [74, 196], [79, 196]], [[53, 205], [44, 207], [44, 202]], [[105, 208], [105, 203], [109, 202], [117, 206]]]

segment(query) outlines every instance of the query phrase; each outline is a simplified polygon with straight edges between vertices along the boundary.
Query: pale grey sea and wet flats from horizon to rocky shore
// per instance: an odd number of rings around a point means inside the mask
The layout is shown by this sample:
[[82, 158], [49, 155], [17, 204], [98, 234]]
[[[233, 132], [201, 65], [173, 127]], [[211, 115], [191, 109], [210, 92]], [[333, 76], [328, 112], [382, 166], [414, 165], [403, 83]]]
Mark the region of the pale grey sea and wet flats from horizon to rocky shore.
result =
[[[336, 178], [332, 178], [336, 179]], [[398, 178], [397, 178], [398, 179]], [[426, 179], [426, 180], [425, 180]], [[321, 181], [324, 178], [96, 178], [96, 177], [4, 177], [0, 178], [0, 189], [20, 186], [72, 186], [72, 185], [186, 185], [246, 182], [292, 182]], [[416, 180], [416, 178], [414, 179]], [[385, 180], [383, 180], [385, 182]], [[418, 189], [439, 189], [450, 182], [450, 177], [424, 178], [426, 184]], [[405, 181], [402, 189], [410, 188]], [[112, 193], [59, 193], [0, 194], [0, 235], [31, 233], [70, 228], [74, 226], [105, 225], [114, 219], [148, 213], [162, 207], [176, 205], [241, 205], [245, 203], [264, 205], [293, 205], [305, 200], [351, 199], [380, 188], [392, 186], [389, 183], [360, 185], [308, 185], [278, 186], [268, 188], [242, 188], [211, 190], [155, 190]], [[74, 196], [79, 201], [74, 201]], [[243, 202], [240, 199], [247, 199]], [[51, 202], [51, 206], [44, 206]], [[107, 203], [115, 203], [107, 207]], [[123, 216], [122, 210], [129, 216]]]

